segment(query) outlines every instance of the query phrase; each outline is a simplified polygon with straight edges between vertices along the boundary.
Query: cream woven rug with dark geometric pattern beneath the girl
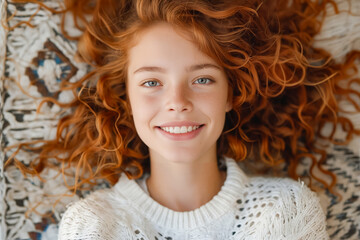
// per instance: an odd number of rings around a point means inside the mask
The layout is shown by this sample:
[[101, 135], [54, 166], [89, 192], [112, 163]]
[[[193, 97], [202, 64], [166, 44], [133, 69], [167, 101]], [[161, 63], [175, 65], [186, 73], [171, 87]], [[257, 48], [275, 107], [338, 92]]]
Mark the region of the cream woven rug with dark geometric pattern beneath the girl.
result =
[[[61, 0], [42, 2], [52, 9], [62, 7]], [[327, 6], [328, 16], [315, 44], [341, 61], [349, 51], [360, 50], [360, 1], [336, 2], [340, 13], [335, 14], [333, 6]], [[0, 18], [0, 239], [57, 239], [66, 205], [88, 192], [60, 199], [67, 189], [57, 172], [47, 170], [47, 181], [42, 182], [24, 178], [14, 167], [4, 171], [3, 150], [21, 141], [54, 137], [57, 120], [65, 113], [52, 104], [43, 105], [36, 113], [40, 99], [51, 96], [71, 100], [68, 92], [56, 93], [59, 83], [64, 79], [77, 81], [88, 67], [74, 60], [76, 43], [62, 35], [60, 15], [38, 4], [0, 0]], [[68, 31], [76, 33], [70, 25]], [[360, 114], [351, 119], [360, 128]], [[337, 134], [341, 138], [343, 133]], [[360, 139], [347, 146], [329, 145], [327, 153], [325, 168], [337, 175], [337, 189], [343, 196], [336, 202], [335, 196], [319, 190], [329, 235], [331, 239], [360, 239]], [[29, 163], [34, 154], [23, 152], [18, 157]], [[299, 173], [306, 171], [307, 164], [303, 162]], [[104, 187], [108, 185], [97, 186]]]

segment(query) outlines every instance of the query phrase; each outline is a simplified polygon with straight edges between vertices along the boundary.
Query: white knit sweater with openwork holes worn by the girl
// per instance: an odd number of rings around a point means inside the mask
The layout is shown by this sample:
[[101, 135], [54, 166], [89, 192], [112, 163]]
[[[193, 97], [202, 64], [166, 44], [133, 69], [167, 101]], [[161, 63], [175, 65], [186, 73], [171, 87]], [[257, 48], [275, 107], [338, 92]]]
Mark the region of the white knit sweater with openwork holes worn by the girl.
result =
[[59, 239], [329, 239], [319, 200], [304, 183], [250, 178], [231, 159], [226, 166], [220, 192], [190, 212], [161, 206], [144, 182], [123, 176], [113, 188], [72, 204]]

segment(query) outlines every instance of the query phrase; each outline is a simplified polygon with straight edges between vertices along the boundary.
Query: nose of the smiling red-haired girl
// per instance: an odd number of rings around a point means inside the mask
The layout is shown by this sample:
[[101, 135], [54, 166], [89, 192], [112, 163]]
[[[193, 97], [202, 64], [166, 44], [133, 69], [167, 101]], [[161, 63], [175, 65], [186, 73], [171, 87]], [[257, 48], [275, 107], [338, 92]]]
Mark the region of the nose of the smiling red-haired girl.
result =
[[193, 104], [191, 101], [191, 90], [183, 85], [176, 84], [168, 89], [167, 106], [168, 111], [187, 112], [191, 111]]

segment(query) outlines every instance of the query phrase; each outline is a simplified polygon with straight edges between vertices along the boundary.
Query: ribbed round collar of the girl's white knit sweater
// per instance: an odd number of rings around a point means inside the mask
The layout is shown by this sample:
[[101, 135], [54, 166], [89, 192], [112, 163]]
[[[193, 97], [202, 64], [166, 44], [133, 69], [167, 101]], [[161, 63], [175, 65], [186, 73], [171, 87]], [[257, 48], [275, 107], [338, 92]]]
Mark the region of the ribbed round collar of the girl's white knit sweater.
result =
[[217, 195], [203, 206], [187, 212], [173, 211], [152, 199], [135, 180], [125, 175], [114, 186], [119, 194], [125, 196], [132, 205], [154, 223], [167, 229], [186, 230], [209, 224], [229, 212], [248, 182], [245, 173], [233, 160], [225, 159], [227, 174], [224, 185]]

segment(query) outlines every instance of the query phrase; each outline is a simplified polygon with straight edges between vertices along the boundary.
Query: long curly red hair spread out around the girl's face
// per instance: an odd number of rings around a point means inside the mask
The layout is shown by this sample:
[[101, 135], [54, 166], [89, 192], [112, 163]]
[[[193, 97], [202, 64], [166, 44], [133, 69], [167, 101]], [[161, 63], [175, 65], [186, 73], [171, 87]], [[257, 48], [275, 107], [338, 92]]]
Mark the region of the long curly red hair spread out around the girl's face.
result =
[[[83, 29], [78, 53], [93, 70], [77, 83], [64, 82], [75, 100], [59, 103], [73, 109], [63, 117], [56, 138], [41, 147], [37, 159], [25, 167], [39, 174], [61, 163], [62, 172], [76, 167], [77, 189], [99, 178], [111, 184], [125, 172], [131, 178], [149, 171], [148, 149], [138, 137], [126, 93], [128, 50], [141, 30], [154, 22], [167, 22], [186, 30], [199, 49], [223, 67], [232, 89], [233, 109], [226, 115], [218, 140], [218, 155], [255, 161], [268, 166], [285, 163], [297, 179], [296, 167], [304, 157], [312, 160], [310, 175], [332, 190], [336, 176], [323, 169], [326, 153], [319, 139], [336, 142], [340, 124], [348, 133], [360, 134], [351, 121], [339, 116], [339, 101], [360, 96], [350, 84], [360, 83], [347, 73], [357, 70], [352, 52], [345, 63], [313, 46], [320, 31], [325, 6], [331, 0], [68, 0], [75, 25]], [[91, 21], [87, 21], [91, 16]], [[67, 36], [65, 29], [64, 34]], [[68, 36], [73, 38], [72, 36]], [[341, 81], [349, 81], [347, 88]], [[322, 135], [326, 124], [329, 136]], [[344, 143], [346, 143], [346, 141]], [[320, 154], [320, 157], [319, 157]], [[317, 166], [331, 184], [313, 173]]]

